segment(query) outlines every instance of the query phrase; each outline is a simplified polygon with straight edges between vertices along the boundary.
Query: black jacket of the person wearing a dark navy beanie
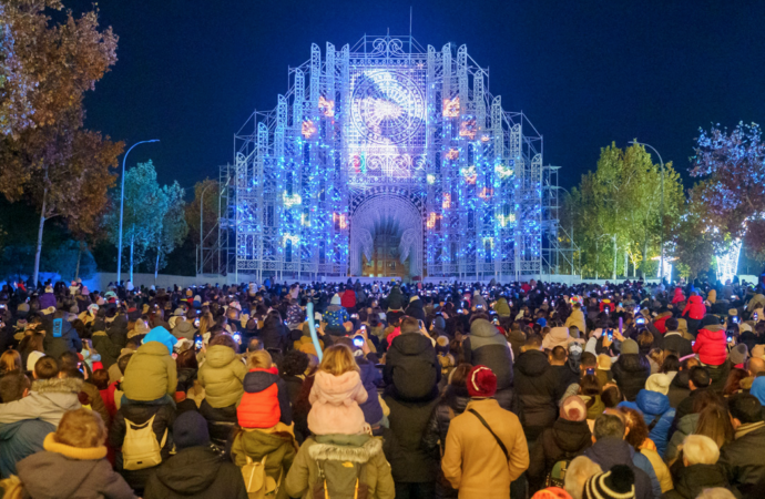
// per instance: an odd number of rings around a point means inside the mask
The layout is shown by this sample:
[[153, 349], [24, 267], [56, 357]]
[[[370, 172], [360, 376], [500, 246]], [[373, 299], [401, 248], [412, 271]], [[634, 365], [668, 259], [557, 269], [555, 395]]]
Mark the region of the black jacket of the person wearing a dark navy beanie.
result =
[[242, 471], [210, 447], [190, 447], [160, 465], [144, 499], [247, 499]]

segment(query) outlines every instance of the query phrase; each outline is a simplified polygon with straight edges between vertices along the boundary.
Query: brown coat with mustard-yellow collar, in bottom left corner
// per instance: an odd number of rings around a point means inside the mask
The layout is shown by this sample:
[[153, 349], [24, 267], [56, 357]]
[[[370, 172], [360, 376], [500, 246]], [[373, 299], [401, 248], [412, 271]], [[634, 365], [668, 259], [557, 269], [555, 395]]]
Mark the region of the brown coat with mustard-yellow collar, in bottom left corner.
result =
[[133, 499], [133, 490], [106, 459], [106, 447], [78, 448], [45, 437], [45, 450], [17, 468], [26, 496], [33, 498]]

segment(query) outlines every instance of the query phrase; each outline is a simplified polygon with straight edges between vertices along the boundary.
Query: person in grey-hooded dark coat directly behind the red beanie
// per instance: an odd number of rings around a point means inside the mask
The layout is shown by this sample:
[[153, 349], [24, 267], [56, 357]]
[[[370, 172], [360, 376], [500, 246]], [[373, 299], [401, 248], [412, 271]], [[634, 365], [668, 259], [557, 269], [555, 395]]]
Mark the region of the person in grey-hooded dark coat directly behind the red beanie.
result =
[[477, 318], [470, 324], [470, 336], [462, 342], [465, 361], [473, 366], [487, 366], [497, 377], [497, 394], [500, 407], [512, 408], [512, 353], [507, 338], [493, 324]]

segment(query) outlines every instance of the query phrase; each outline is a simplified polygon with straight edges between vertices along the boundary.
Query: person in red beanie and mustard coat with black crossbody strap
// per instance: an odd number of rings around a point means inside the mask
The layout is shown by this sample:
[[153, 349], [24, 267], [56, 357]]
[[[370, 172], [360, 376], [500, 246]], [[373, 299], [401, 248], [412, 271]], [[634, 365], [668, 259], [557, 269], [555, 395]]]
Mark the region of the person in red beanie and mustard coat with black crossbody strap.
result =
[[491, 398], [497, 383], [490, 368], [473, 367], [466, 380], [470, 401], [449, 426], [441, 470], [461, 499], [507, 498], [529, 467], [520, 420]]

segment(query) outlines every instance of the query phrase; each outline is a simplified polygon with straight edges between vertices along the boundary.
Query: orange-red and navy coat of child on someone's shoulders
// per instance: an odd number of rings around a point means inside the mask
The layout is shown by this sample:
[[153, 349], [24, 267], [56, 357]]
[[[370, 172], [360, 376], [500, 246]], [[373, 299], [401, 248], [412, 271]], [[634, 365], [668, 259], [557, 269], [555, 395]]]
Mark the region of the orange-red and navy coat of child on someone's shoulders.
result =
[[272, 428], [282, 421], [292, 425], [289, 395], [276, 367], [249, 369], [244, 377], [244, 395], [236, 408], [243, 428]]

